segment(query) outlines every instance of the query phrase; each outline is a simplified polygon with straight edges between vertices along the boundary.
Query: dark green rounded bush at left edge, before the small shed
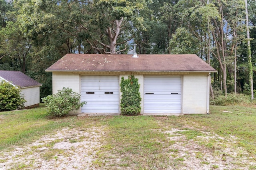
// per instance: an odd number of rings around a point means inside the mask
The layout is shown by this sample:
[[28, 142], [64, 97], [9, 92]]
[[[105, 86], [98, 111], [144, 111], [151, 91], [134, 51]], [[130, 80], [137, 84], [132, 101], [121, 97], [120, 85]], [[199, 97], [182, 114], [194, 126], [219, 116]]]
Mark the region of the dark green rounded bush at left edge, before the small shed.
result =
[[24, 107], [26, 100], [21, 90], [12, 84], [0, 81], [0, 111], [16, 110]]

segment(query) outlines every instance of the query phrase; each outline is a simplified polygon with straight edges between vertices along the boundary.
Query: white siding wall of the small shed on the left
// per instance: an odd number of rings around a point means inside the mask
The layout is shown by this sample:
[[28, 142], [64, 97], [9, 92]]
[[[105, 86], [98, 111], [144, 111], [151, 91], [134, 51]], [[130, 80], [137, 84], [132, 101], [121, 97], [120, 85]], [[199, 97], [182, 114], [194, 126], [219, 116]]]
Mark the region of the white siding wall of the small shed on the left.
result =
[[22, 88], [21, 94], [24, 94], [26, 100], [25, 107], [40, 103], [40, 89], [39, 87]]

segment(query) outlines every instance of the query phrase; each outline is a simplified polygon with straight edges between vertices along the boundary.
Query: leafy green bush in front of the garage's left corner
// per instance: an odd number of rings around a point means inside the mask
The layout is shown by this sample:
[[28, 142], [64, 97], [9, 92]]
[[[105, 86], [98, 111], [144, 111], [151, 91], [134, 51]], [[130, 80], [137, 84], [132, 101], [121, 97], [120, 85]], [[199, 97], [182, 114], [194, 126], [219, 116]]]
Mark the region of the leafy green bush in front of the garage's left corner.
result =
[[81, 95], [73, 92], [71, 88], [63, 87], [56, 94], [48, 95], [42, 98], [42, 102], [48, 106], [48, 115], [63, 116], [69, 111], [77, 110], [86, 104], [85, 101], [80, 102]]

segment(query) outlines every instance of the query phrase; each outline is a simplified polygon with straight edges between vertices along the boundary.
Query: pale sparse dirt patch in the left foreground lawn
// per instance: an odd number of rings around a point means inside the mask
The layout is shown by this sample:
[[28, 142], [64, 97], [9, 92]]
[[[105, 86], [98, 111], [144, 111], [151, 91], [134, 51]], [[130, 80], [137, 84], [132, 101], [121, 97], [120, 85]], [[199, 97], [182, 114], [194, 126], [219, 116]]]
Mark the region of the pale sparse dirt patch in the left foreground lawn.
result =
[[0, 170], [36, 169], [70, 170], [94, 169], [92, 161], [101, 147], [103, 127], [91, 129], [62, 129], [43, 136], [22, 148], [14, 148], [0, 156]]

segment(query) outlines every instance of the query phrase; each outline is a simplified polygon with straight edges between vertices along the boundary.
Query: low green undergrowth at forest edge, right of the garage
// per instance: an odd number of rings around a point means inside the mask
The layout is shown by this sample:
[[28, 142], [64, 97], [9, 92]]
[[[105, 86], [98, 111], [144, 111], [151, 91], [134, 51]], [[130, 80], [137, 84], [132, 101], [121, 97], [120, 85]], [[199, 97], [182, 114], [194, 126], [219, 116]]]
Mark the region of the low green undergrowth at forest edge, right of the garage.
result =
[[216, 96], [214, 100], [210, 101], [210, 104], [218, 106], [228, 106], [231, 104], [240, 104], [242, 102], [250, 102], [249, 96], [246, 96], [244, 94], [229, 93], [227, 94], [227, 96]]

